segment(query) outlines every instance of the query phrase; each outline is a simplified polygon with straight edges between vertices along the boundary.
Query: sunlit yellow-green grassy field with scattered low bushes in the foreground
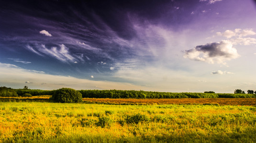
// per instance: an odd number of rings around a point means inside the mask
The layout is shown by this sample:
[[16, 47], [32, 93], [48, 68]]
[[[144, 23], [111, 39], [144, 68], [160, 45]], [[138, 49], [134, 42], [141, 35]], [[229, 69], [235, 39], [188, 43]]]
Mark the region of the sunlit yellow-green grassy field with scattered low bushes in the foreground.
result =
[[0, 142], [255, 143], [256, 106], [0, 102]]

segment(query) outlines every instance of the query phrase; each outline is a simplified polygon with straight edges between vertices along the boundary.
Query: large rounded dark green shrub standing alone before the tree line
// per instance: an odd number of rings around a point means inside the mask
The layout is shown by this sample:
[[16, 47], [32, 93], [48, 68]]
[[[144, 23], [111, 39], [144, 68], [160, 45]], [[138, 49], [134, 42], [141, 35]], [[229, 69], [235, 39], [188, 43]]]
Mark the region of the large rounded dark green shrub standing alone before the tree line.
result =
[[51, 99], [61, 103], [82, 102], [82, 94], [71, 88], [61, 88], [54, 92]]

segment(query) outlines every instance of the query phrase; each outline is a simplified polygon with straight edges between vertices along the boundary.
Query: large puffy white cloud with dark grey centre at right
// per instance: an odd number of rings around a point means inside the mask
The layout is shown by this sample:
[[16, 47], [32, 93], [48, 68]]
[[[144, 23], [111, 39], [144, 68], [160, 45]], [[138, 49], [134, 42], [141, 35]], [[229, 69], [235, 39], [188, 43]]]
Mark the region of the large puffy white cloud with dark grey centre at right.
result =
[[193, 49], [183, 51], [184, 58], [189, 58], [194, 61], [205, 61], [208, 63], [222, 63], [224, 61], [238, 58], [240, 55], [233, 48], [230, 41], [221, 41], [208, 43], [206, 45], [196, 46]]

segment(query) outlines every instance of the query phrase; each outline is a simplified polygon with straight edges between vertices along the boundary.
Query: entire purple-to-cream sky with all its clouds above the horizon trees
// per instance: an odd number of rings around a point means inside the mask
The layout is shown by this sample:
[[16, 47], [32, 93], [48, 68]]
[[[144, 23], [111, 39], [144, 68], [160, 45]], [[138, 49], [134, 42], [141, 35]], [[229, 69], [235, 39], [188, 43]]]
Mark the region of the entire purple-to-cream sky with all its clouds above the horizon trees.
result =
[[0, 86], [256, 90], [255, 0], [0, 1]]

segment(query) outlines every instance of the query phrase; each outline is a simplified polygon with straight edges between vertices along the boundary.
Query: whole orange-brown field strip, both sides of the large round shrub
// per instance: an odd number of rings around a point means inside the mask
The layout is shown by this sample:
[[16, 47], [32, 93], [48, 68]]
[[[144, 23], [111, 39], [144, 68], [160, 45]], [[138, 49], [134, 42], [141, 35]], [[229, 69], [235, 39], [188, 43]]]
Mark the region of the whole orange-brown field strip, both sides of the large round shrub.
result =
[[[0, 102], [48, 102], [50, 96], [33, 97], [0, 97]], [[110, 99], [110, 98], [83, 98], [87, 103], [105, 103], [105, 104], [219, 104], [219, 105], [247, 105], [255, 106], [256, 98], [181, 98], [181, 99]]]

